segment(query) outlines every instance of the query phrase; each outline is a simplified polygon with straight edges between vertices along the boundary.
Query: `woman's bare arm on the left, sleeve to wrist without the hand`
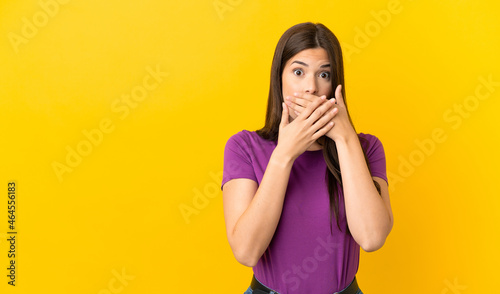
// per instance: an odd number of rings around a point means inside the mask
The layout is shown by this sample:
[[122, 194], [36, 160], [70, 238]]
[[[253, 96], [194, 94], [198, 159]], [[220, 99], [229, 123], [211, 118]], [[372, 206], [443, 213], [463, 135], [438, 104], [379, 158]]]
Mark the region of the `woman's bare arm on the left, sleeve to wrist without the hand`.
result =
[[226, 233], [241, 264], [255, 266], [269, 246], [281, 217], [292, 165], [291, 159], [275, 149], [258, 188], [250, 179], [234, 179], [224, 185]]

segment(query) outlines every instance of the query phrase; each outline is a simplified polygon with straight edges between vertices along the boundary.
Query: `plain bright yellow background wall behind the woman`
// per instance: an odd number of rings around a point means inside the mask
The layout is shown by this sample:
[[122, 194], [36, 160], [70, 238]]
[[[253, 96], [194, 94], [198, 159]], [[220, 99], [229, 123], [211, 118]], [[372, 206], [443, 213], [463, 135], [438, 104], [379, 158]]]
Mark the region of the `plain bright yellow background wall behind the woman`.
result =
[[[304, 21], [341, 41], [356, 129], [380, 138], [392, 175], [394, 229], [362, 253], [362, 290], [495, 291], [500, 86], [480, 79], [500, 82], [498, 1], [61, 2], [41, 2], [52, 15], [38, 1], [0, 2], [2, 293], [215, 293], [214, 283], [243, 293], [251, 268], [225, 236], [223, 149], [262, 127], [274, 47]], [[120, 99], [145, 80], [156, 88], [125, 115]], [[84, 132], [102, 120], [111, 131], [89, 150]], [[54, 162], [84, 145], [59, 180]], [[16, 287], [6, 277], [12, 180]], [[180, 205], [200, 194], [186, 221]]]

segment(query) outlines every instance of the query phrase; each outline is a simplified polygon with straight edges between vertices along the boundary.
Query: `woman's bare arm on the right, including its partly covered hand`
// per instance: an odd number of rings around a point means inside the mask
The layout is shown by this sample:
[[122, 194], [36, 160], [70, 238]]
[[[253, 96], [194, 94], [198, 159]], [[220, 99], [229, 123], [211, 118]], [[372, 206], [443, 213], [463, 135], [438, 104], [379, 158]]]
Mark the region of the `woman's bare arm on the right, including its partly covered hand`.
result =
[[[334, 126], [326, 136], [334, 140], [337, 146], [349, 230], [363, 250], [374, 251], [384, 245], [392, 229], [389, 191], [385, 180], [370, 175], [358, 135], [349, 121], [341, 90], [342, 86], [337, 86], [335, 98], [330, 99], [337, 102], [334, 107], [338, 112], [333, 118]], [[309, 107], [309, 103], [316, 100], [314, 95], [296, 95], [292, 99], [292, 109], [303, 111], [303, 107]], [[380, 194], [373, 180], [380, 184]]]

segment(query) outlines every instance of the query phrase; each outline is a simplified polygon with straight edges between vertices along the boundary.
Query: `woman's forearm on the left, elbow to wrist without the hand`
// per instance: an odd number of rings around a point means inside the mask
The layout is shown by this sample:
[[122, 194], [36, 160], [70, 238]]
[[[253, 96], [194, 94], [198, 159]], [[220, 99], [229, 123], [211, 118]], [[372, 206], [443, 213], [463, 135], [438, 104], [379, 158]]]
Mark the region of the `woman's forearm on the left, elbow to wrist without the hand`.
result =
[[257, 263], [274, 236], [292, 165], [293, 159], [275, 149], [252, 202], [234, 226], [235, 247], [247, 266]]

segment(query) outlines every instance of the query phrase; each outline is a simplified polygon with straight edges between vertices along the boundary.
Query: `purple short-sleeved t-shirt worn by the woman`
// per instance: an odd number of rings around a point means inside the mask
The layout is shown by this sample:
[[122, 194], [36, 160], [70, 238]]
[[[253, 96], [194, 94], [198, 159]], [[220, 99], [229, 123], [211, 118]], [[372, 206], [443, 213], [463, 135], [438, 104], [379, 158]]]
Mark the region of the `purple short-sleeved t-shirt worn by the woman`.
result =
[[[385, 153], [380, 140], [358, 134], [372, 176], [387, 181]], [[276, 143], [256, 132], [243, 130], [231, 136], [224, 150], [224, 184], [237, 178], [259, 185]], [[329, 294], [347, 287], [359, 265], [359, 245], [346, 233], [344, 196], [340, 191], [340, 231], [332, 216], [325, 180], [326, 163], [322, 150], [305, 151], [294, 162], [276, 232], [258, 263], [253, 267], [257, 280], [280, 294]], [[262, 213], [266, 213], [265, 210]]]

